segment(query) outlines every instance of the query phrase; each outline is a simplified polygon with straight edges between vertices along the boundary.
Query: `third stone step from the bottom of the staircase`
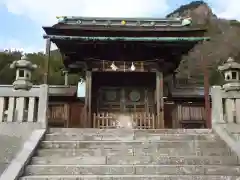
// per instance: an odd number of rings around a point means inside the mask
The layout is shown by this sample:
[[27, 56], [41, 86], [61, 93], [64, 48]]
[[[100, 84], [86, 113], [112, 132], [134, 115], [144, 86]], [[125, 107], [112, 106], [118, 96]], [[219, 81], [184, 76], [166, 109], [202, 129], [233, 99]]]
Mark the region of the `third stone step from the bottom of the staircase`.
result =
[[158, 165], [238, 165], [235, 156], [96, 156], [96, 157], [33, 157], [31, 164], [59, 164], [59, 165], [84, 165], [84, 164], [158, 164]]

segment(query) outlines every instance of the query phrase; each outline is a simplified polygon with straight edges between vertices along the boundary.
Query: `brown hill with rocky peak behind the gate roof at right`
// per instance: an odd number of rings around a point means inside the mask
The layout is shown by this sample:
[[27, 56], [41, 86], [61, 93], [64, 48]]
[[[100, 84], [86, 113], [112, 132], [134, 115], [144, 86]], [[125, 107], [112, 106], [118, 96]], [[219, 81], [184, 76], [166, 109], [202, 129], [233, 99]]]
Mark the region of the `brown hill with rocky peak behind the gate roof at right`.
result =
[[217, 66], [229, 56], [240, 60], [240, 23], [236, 20], [218, 18], [203, 1], [193, 1], [167, 15], [167, 17], [179, 16], [192, 17], [193, 26], [207, 27], [206, 36], [210, 36], [211, 40], [199, 43], [183, 57], [177, 69], [177, 77], [203, 84], [204, 60], [210, 72], [210, 83], [221, 84], [222, 78], [217, 72]]

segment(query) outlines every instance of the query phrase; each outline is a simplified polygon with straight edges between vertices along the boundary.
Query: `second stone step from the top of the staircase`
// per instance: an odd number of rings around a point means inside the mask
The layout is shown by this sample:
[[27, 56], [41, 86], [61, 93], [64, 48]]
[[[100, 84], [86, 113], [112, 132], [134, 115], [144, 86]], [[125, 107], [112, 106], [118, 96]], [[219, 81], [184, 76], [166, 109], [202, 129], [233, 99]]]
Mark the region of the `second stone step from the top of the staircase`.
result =
[[220, 140], [220, 138], [214, 134], [148, 134], [148, 133], [135, 133], [133, 135], [101, 135], [101, 134], [77, 134], [77, 133], [51, 133], [45, 135], [45, 140], [47, 141], [69, 141], [69, 140], [77, 140], [77, 141], [115, 141], [115, 140], [208, 140], [208, 141], [216, 141]]

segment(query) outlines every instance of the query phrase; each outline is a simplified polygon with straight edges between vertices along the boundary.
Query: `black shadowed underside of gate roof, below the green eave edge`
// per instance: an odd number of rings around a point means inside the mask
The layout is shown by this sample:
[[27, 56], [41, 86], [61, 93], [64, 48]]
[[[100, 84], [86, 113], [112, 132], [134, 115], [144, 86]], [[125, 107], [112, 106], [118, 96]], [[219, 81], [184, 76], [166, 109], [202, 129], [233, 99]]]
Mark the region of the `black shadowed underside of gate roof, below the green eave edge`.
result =
[[[128, 44], [128, 43], [108, 43], [102, 44], [62, 44], [59, 46], [60, 51], [69, 56], [78, 56], [82, 58], [96, 58], [105, 60], [120, 60], [121, 58], [133, 60], [133, 59], [155, 59], [166, 58], [170, 56], [181, 56], [192, 49], [191, 45], [179, 45], [179, 46], [155, 46], [154, 44]], [[81, 49], [81, 50], [80, 50]], [[108, 53], [106, 53], [106, 51]], [[172, 55], [172, 53], [175, 53]], [[120, 58], [121, 56], [121, 58]], [[125, 57], [124, 57], [125, 56]], [[74, 58], [75, 58], [74, 57]], [[149, 58], [148, 58], [149, 57]], [[117, 59], [119, 58], [119, 59]]]

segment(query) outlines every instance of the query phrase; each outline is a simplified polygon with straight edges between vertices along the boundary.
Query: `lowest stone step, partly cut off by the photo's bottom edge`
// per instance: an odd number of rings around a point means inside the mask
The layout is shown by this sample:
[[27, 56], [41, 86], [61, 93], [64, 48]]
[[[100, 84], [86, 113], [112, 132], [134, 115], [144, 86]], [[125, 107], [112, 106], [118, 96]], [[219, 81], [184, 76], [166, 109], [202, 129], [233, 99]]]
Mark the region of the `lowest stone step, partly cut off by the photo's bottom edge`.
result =
[[239, 176], [221, 175], [46, 175], [25, 176], [20, 180], [239, 180]]

